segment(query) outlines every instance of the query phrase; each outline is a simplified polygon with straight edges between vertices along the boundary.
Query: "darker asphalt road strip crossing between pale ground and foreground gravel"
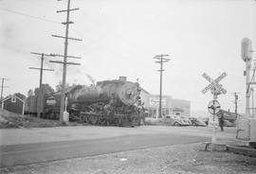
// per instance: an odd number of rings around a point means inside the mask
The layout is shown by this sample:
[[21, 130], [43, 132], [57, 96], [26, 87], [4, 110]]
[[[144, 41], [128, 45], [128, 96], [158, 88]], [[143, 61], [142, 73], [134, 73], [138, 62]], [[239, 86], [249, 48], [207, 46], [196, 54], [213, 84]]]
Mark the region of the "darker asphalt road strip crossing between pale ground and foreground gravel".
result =
[[1, 167], [27, 165], [75, 157], [100, 155], [139, 148], [188, 144], [209, 138], [179, 134], [140, 134], [98, 140], [36, 143], [1, 147]]

